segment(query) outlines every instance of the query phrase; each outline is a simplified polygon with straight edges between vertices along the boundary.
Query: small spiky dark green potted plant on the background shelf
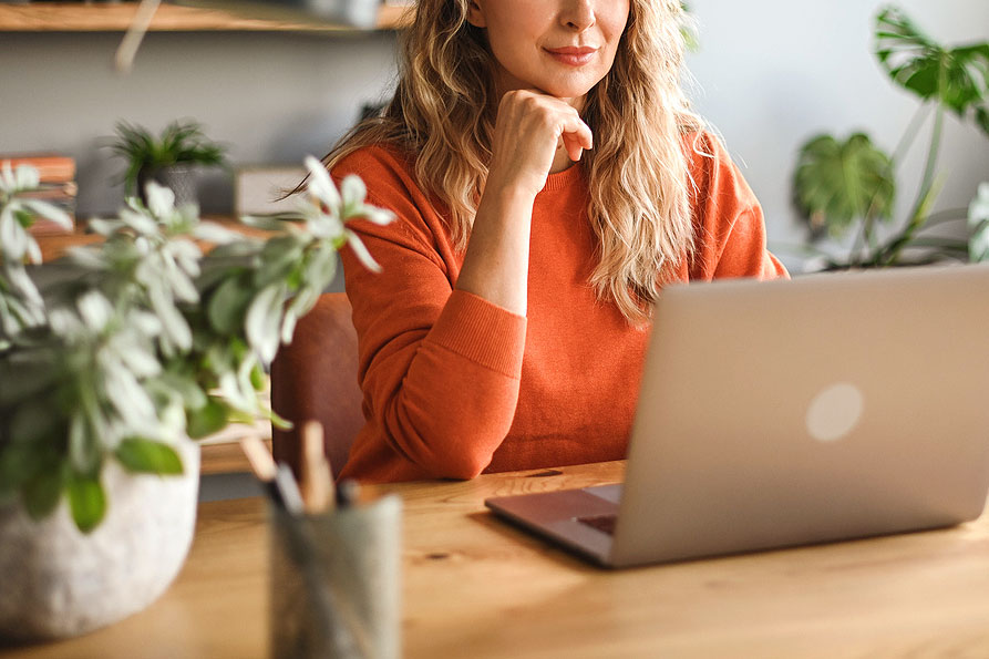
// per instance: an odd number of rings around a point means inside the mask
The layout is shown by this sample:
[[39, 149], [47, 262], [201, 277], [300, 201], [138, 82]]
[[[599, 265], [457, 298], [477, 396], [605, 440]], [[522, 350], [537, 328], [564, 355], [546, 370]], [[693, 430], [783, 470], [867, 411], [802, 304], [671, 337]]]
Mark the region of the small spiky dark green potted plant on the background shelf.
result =
[[127, 163], [124, 194], [137, 194], [145, 204], [144, 191], [151, 181], [172, 189], [179, 206], [194, 203], [195, 167], [226, 164], [225, 148], [210, 142], [192, 120], [169, 123], [157, 137], [143, 126], [120, 121], [110, 148]]

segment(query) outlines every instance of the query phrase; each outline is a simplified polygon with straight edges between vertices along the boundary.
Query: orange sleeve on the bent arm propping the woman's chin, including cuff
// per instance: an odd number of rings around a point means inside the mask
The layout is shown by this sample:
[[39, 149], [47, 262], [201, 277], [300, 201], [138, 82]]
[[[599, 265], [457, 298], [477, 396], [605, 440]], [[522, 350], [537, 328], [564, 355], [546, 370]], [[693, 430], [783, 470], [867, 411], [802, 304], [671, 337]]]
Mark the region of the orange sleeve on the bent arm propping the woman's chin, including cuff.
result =
[[396, 218], [348, 225], [381, 272], [341, 251], [367, 419], [350, 460], [367, 464], [344, 474], [476, 476], [512, 425], [526, 319], [454, 290], [460, 266], [446, 230], [399, 161], [358, 152], [333, 171], [349, 173], [367, 184], [368, 203]]

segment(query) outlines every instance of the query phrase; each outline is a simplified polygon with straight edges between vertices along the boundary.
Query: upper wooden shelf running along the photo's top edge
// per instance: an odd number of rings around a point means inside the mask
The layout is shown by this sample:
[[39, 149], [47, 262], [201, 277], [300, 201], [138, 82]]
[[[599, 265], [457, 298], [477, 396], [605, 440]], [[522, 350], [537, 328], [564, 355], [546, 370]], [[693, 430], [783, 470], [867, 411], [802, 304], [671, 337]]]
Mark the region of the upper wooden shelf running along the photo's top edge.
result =
[[[136, 2], [45, 2], [0, 4], [0, 32], [123, 32], [134, 19]], [[378, 30], [399, 30], [411, 21], [409, 7], [382, 4]], [[354, 28], [248, 19], [219, 9], [158, 7], [151, 32], [351, 32]]]

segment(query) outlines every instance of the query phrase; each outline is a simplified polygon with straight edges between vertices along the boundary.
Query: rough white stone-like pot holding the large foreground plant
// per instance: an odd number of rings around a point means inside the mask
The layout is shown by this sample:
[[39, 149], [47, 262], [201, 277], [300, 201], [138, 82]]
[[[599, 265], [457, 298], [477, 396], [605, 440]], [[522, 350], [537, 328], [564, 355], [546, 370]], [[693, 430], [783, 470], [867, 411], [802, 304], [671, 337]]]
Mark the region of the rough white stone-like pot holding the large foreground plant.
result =
[[177, 446], [181, 476], [103, 467], [107, 507], [92, 533], [72, 522], [65, 497], [33, 522], [0, 506], [0, 637], [76, 636], [116, 622], [157, 599], [182, 568], [196, 525], [199, 445]]

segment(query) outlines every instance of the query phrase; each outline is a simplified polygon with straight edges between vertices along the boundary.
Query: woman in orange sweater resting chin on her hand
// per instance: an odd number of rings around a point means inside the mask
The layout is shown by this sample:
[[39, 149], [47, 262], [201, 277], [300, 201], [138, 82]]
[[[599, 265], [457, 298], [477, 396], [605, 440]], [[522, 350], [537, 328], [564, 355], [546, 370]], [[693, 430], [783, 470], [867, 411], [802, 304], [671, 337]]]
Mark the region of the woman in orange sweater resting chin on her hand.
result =
[[[679, 0], [420, 0], [384, 115], [329, 156], [396, 215], [344, 254], [367, 424], [342, 476], [626, 455], [651, 303], [781, 277], [679, 89]], [[576, 163], [576, 164], [575, 164]]]

